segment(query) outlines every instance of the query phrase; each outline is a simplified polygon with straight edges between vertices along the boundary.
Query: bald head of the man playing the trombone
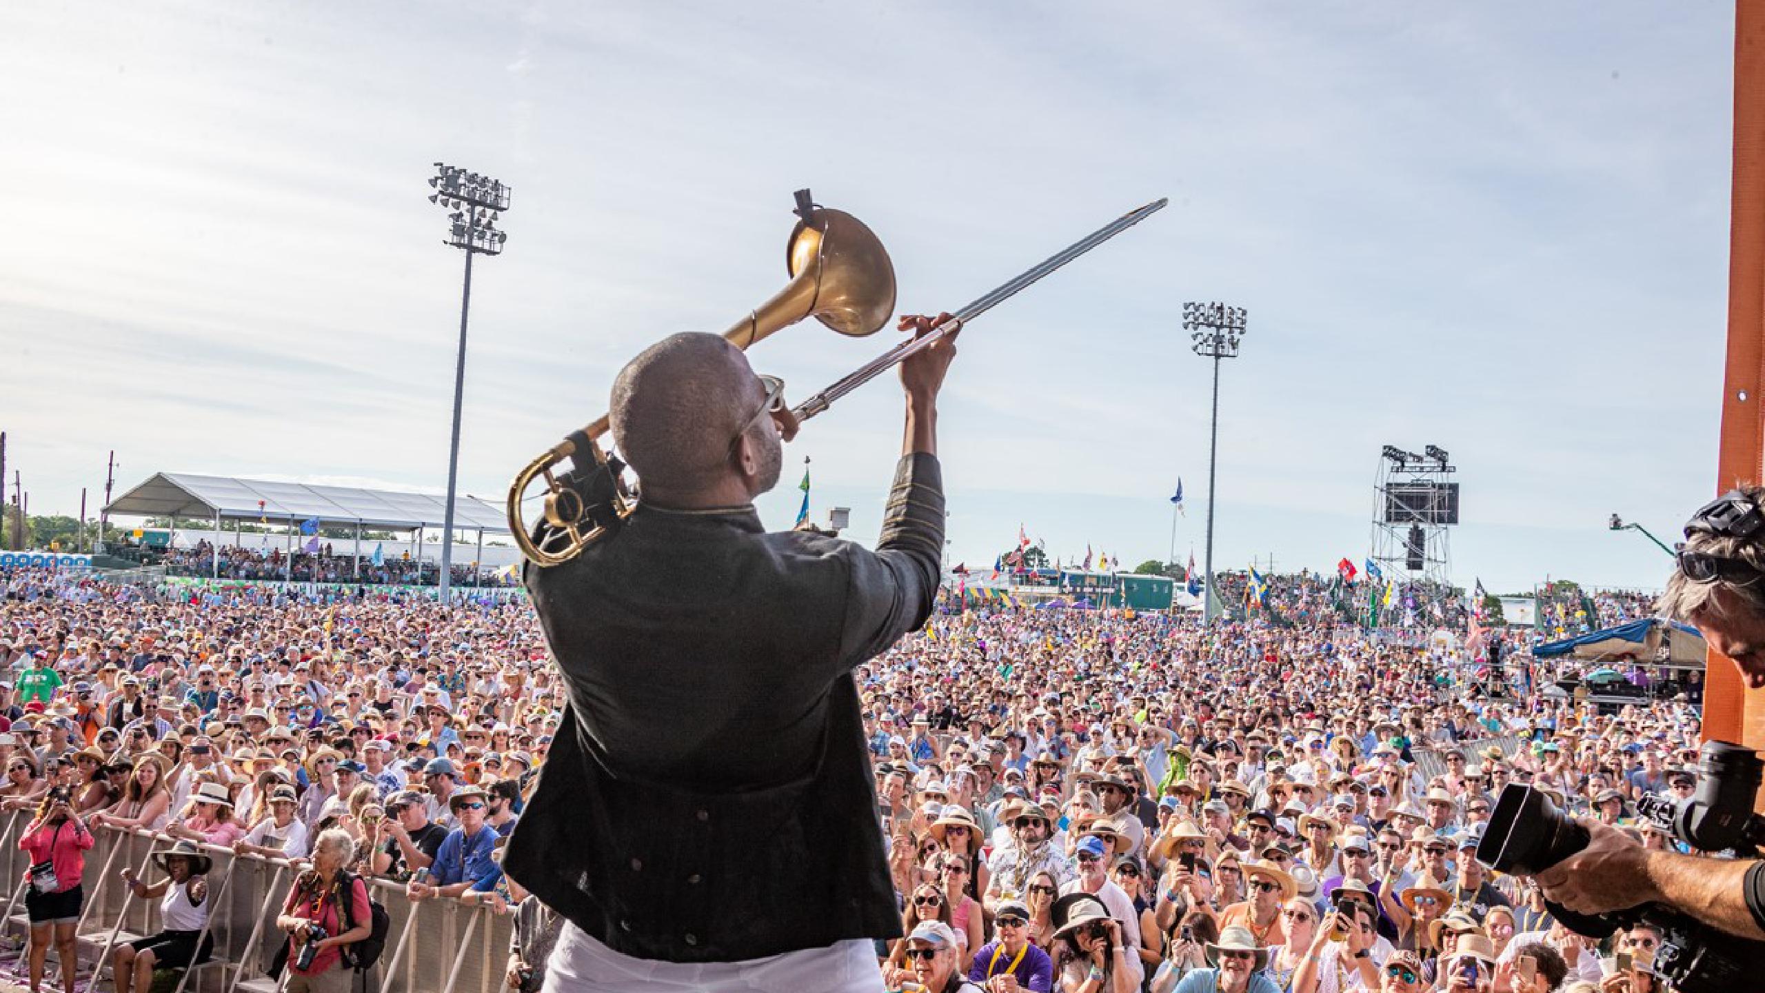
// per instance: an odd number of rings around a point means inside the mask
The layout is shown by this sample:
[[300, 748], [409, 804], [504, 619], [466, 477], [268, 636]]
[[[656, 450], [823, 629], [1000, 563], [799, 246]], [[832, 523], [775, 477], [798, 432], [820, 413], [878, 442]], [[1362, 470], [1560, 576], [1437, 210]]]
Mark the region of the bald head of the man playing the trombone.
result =
[[[732, 472], [731, 442], [766, 390], [747, 355], [715, 334], [674, 334], [632, 359], [612, 382], [612, 443], [644, 488], [704, 489]], [[777, 451], [761, 421], [755, 442]], [[782, 452], [780, 452], [782, 461]], [[771, 488], [777, 475], [764, 481]]]

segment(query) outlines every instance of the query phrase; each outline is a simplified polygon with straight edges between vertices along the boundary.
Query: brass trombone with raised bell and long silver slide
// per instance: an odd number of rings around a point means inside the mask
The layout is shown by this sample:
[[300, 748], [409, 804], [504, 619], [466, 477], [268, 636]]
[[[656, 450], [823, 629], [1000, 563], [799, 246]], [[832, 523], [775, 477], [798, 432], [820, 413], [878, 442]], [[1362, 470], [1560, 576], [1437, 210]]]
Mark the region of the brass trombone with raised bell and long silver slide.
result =
[[[865, 362], [851, 375], [805, 399], [792, 408], [792, 413], [798, 421], [822, 413], [842, 396], [930, 348], [932, 343], [1015, 297], [1043, 276], [1151, 217], [1165, 203], [1165, 198], [1154, 200], [1103, 224], [958, 307], [951, 313], [951, 320]], [[747, 350], [773, 332], [810, 316], [838, 334], [865, 337], [881, 330], [895, 311], [895, 265], [870, 228], [851, 214], [814, 203], [807, 189], [796, 193], [794, 212], [798, 223], [785, 244], [785, 267], [791, 281], [724, 332], [724, 337], [736, 348]], [[515, 481], [508, 488], [508, 528], [521, 551], [535, 565], [561, 565], [575, 558], [637, 509], [637, 496], [625, 486], [623, 463], [602, 451], [598, 443], [607, 428], [609, 419], [602, 415], [582, 429], [572, 431], [563, 442], [515, 474]], [[572, 470], [560, 477], [552, 470], [565, 459], [572, 461]], [[530, 534], [521, 504], [535, 479], [545, 481], [545, 504], [540, 525]]]

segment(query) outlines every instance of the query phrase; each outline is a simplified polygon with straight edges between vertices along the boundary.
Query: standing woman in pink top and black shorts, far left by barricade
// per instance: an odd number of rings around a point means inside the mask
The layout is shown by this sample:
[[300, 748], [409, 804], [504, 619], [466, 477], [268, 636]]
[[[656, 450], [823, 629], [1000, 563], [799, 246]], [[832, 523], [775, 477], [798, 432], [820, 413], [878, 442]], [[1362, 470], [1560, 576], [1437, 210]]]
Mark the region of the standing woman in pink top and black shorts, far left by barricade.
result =
[[30, 919], [30, 991], [42, 988], [42, 966], [49, 958], [49, 940], [62, 963], [62, 988], [74, 988], [74, 970], [79, 966], [74, 947], [74, 929], [85, 892], [79, 878], [86, 873], [85, 852], [92, 848], [92, 832], [74, 816], [72, 792], [55, 786], [37, 806], [37, 818], [25, 827], [18, 846], [30, 855], [25, 869], [25, 915]]

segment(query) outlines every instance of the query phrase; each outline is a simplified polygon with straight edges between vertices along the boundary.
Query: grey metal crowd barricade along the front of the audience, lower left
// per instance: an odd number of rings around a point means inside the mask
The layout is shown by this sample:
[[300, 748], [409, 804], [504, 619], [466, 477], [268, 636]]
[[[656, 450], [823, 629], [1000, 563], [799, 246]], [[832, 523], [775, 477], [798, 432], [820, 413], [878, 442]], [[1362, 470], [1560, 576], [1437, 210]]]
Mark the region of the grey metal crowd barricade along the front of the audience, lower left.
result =
[[[12, 811], [0, 827], [0, 880], [14, 901], [5, 917], [7, 933], [25, 935], [19, 880], [30, 859], [18, 839], [32, 811]], [[86, 903], [79, 917], [79, 947], [85, 975], [86, 961], [97, 981], [109, 977], [115, 949], [134, 938], [159, 931], [159, 901], [136, 899], [122, 880], [122, 868], [152, 883], [159, 873], [152, 853], [169, 846], [146, 830], [94, 829], [86, 852]], [[277, 982], [265, 968], [286, 940], [275, 928], [288, 887], [298, 869], [288, 859], [235, 855], [229, 848], [203, 845], [214, 860], [208, 873], [208, 933], [214, 938], [210, 959], [184, 970], [176, 993], [254, 993], [274, 991]], [[411, 903], [404, 887], [390, 880], [365, 878], [369, 896], [387, 908], [392, 926], [387, 951], [367, 975], [362, 989], [379, 993], [498, 993], [507, 989], [508, 936], [512, 913], [496, 913], [457, 899]], [[199, 942], [201, 938], [198, 938]], [[55, 956], [51, 956], [51, 963]], [[113, 986], [108, 986], [113, 988]]]

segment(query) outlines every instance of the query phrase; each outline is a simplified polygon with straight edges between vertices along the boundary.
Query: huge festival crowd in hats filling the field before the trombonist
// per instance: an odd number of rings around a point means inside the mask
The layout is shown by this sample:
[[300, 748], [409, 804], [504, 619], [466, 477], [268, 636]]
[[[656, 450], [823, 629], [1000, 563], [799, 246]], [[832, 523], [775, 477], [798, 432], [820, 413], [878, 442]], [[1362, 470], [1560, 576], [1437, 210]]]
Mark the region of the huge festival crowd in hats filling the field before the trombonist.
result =
[[[1689, 793], [1696, 709], [1502, 686], [1460, 648], [1350, 622], [1329, 587], [1276, 578], [1285, 624], [1211, 629], [941, 611], [863, 664], [905, 933], [877, 945], [888, 989], [1656, 989], [1659, 933], [1585, 940], [1472, 852], [1509, 783], [1675, 845], [1634, 804]], [[207, 954], [207, 846], [302, 860], [275, 921], [291, 989], [348, 979], [364, 878], [514, 913], [510, 986], [544, 979], [558, 921], [499, 869], [563, 707], [524, 603], [18, 569], [0, 572], [0, 673], [34, 989], [51, 949], [72, 961], [102, 829], [162, 838], [127, 885], [164, 931], [116, 949], [124, 993]]]

